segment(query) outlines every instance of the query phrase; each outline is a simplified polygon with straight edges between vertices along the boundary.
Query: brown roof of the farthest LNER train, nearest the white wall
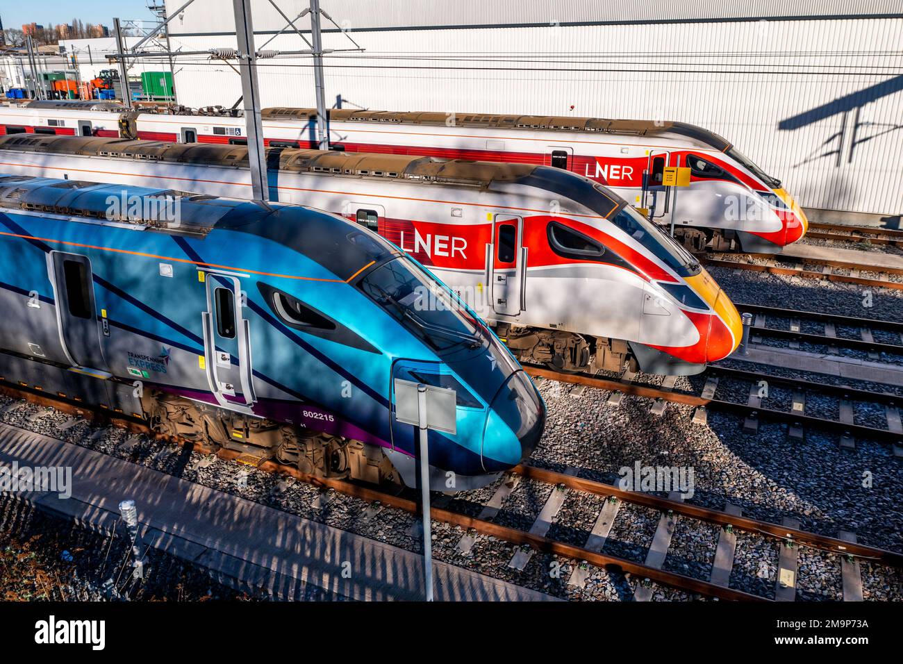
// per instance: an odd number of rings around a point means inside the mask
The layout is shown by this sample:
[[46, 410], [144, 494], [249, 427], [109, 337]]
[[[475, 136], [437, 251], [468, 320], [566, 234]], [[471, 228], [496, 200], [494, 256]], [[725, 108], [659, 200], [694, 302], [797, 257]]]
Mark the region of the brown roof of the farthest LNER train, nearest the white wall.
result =
[[[267, 119], [293, 118], [315, 120], [316, 108], [264, 108], [261, 116]], [[444, 126], [449, 114], [434, 111], [371, 111], [351, 108], [332, 108], [330, 120], [338, 122], [380, 122], [402, 125]], [[658, 122], [650, 120], [611, 120], [601, 117], [568, 116], [516, 116], [496, 113], [462, 113], [455, 115], [455, 126], [484, 127], [493, 129], [550, 129], [558, 131], [600, 132], [624, 136], [661, 136], [677, 134], [686, 136], [716, 150], [727, 150], [731, 143], [708, 129], [685, 122]]]

